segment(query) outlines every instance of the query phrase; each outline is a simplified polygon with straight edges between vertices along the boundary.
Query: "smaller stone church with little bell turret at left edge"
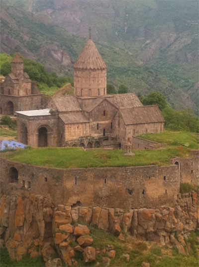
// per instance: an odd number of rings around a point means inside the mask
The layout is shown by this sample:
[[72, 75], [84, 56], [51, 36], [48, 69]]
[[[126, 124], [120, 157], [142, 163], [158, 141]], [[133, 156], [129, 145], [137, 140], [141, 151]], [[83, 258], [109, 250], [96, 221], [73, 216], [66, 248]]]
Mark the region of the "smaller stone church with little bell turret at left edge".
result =
[[12, 115], [15, 111], [42, 107], [43, 94], [23, 72], [23, 60], [16, 54], [11, 61], [11, 73], [0, 85], [0, 113]]

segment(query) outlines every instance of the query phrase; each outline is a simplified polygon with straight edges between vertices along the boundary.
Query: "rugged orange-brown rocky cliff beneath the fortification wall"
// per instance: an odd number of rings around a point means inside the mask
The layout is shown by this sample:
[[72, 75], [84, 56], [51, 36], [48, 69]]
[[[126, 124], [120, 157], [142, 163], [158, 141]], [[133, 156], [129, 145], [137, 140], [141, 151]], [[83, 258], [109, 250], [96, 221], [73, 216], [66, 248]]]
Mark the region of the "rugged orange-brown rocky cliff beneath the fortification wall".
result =
[[[61, 266], [60, 258], [65, 264], [75, 264], [75, 251], [83, 253], [85, 262], [95, 261], [99, 249], [92, 247], [89, 225], [109, 231], [123, 241], [129, 234], [142, 241], [176, 246], [185, 254], [184, 238], [199, 223], [195, 192], [179, 194], [174, 208], [160, 206], [156, 210], [90, 208], [78, 203], [55, 207], [50, 198], [26, 194], [2, 195], [0, 200], [0, 244], [5, 244], [10, 259], [20, 261], [28, 252], [32, 258], [42, 255], [46, 266]], [[53, 260], [55, 254], [59, 259]]]

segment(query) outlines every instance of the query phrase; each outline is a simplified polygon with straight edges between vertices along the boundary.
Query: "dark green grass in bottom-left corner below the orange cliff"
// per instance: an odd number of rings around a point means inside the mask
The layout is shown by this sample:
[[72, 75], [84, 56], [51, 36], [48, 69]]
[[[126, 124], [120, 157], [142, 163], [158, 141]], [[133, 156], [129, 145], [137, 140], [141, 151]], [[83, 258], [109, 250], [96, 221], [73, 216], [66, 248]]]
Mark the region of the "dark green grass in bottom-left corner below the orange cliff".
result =
[[20, 262], [11, 262], [9, 254], [5, 247], [0, 248], [0, 267], [44, 267], [45, 263], [42, 257], [31, 259], [26, 255]]

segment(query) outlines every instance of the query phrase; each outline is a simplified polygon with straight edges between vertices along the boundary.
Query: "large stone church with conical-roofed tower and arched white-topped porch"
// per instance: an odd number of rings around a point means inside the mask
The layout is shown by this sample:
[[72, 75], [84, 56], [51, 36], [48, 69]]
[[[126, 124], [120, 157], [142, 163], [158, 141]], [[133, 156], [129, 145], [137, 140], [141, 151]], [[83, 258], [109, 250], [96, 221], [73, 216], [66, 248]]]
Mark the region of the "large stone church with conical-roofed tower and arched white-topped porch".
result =
[[[30, 110], [26, 105], [17, 111], [18, 141], [31, 147], [124, 148], [132, 144], [132, 136], [163, 132], [157, 105], [143, 106], [135, 93], [106, 94], [106, 72], [89, 38], [74, 65], [74, 95], [53, 96], [45, 109]], [[28, 79], [27, 74], [22, 77]], [[24, 87], [22, 92], [17, 88], [12, 94], [24, 95]], [[28, 88], [26, 93], [31, 93]]]

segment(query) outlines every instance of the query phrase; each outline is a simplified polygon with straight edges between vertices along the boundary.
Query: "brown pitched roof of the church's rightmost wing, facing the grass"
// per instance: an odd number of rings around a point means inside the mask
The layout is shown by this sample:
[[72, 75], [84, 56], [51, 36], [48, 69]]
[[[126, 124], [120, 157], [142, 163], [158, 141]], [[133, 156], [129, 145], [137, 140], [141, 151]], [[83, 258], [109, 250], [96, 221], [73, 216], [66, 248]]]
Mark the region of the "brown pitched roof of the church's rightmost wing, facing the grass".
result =
[[119, 109], [126, 125], [164, 122], [158, 105]]

